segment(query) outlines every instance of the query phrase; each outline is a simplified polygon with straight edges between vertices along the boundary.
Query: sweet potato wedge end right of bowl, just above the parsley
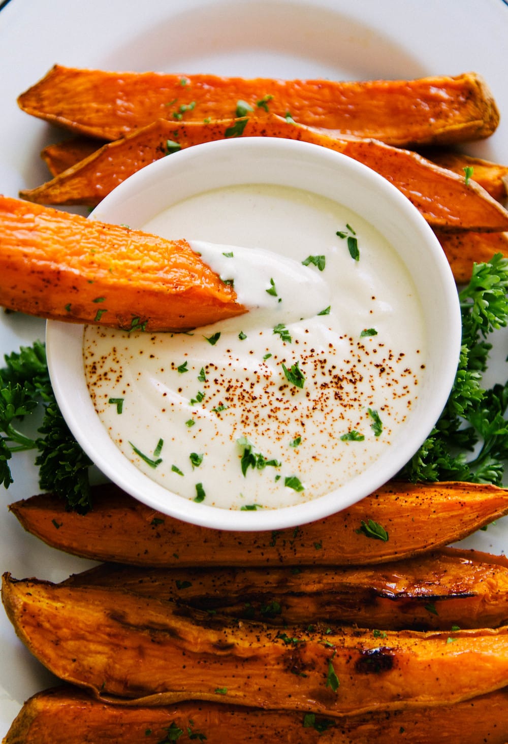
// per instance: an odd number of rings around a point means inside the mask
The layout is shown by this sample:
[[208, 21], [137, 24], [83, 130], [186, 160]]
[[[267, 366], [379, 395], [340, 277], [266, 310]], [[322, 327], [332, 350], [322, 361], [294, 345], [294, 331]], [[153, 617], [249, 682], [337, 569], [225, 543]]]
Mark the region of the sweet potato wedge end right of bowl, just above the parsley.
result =
[[508, 257], [508, 232], [451, 234], [436, 230], [435, 233], [459, 284], [469, 282], [474, 263], [486, 263], [496, 253]]

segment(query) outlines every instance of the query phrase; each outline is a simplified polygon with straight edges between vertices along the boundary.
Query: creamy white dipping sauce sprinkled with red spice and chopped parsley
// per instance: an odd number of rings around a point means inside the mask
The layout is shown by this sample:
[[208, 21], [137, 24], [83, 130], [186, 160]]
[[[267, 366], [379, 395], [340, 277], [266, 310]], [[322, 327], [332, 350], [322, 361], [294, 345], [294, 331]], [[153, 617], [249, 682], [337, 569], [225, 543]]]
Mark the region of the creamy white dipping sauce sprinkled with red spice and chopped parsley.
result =
[[97, 414], [150, 478], [225, 509], [289, 506], [404, 435], [422, 310], [373, 225], [313, 193], [246, 185], [193, 196], [144, 230], [186, 237], [251, 308], [187, 334], [86, 328]]

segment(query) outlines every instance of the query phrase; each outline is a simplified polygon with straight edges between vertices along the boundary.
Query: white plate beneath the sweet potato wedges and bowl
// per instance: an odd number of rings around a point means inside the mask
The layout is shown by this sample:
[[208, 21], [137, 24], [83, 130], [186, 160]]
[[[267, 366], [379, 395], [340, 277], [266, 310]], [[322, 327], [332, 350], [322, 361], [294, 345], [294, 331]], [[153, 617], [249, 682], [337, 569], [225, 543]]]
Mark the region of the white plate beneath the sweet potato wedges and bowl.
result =
[[[211, 72], [248, 77], [407, 78], [475, 70], [501, 109], [492, 138], [468, 152], [508, 164], [503, 0], [10, 0], [0, 12], [0, 193], [17, 196], [48, 174], [38, 153], [59, 132], [30, 118], [16, 97], [54, 63], [118, 70]], [[42, 338], [44, 324], [1, 315], [0, 349]], [[490, 377], [506, 379], [507, 333], [495, 341]], [[2, 493], [0, 566], [15, 577], [60, 580], [88, 567], [23, 533], [6, 504], [37, 493], [33, 457], [18, 456]], [[508, 519], [469, 547], [501, 553]], [[0, 612], [0, 734], [51, 676], [17, 641]]]

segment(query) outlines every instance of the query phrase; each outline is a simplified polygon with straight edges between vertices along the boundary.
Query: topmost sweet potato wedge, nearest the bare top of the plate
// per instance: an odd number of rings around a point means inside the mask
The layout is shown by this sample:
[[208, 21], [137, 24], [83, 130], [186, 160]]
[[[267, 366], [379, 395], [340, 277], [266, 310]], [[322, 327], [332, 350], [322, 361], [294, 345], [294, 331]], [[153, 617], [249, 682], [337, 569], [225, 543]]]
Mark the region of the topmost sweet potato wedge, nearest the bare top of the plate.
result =
[[[244, 80], [208, 74], [111, 72], [55, 65], [19, 96], [31, 115], [74, 132], [115, 140], [159, 118], [203, 121], [234, 115], [237, 100], [258, 112], [290, 112], [310, 126], [394, 145], [487, 137], [499, 113], [475, 73], [419, 80]], [[260, 103], [262, 105], [260, 106]]]

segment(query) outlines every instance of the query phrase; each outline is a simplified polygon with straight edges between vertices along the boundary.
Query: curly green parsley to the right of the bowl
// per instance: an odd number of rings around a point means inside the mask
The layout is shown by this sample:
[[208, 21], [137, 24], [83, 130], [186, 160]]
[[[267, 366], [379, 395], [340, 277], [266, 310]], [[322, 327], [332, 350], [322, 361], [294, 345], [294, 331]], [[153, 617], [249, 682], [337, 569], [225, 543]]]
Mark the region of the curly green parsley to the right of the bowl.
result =
[[475, 264], [459, 292], [462, 347], [451, 394], [431, 434], [399, 473], [410, 481], [469, 481], [501, 486], [508, 460], [508, 382], [483, 388], [492, 344], [508, 324], [508, 259]]

